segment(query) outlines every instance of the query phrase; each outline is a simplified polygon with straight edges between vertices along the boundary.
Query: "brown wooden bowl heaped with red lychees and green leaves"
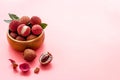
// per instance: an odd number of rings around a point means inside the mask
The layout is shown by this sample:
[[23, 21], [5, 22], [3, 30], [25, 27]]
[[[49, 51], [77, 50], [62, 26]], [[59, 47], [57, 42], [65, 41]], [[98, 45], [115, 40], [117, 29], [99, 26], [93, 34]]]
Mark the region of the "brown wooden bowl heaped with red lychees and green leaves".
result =
[[38, 16], [22, 16], [9, 13], [7, 40], [10, 46], [17, 51], [27, 48], [38, 49], [44, 42], [47, 24]]

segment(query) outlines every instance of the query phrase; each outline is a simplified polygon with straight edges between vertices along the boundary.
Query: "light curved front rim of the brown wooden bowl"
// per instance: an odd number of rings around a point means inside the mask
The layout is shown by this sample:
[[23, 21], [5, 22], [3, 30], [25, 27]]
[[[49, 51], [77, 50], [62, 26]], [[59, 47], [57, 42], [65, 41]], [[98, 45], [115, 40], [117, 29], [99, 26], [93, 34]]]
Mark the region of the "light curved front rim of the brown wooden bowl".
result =
[[15, 41], [15, 42], [22, 42], [22, 43], [29, 43], [29, 42], [36, 41], [36, 40], [38, 40], [40, 37], [42, 37], [42, 35], [44, 35], [44, 30], [42, 31], [42, 33], [41, 33], [38, 37], [36, 37], [36, 38], [34, 38], [34, 39], [26, 40], [26, 41], [20, 41], [20, 40], [16, 40], [16, 39], [12, 38], [12, 37], [10, 36], [10, 34], [9, 34], [9, 31], [7, 32], [7, 36], [8, 36], [11, 40], [13, 40], [13, 41]]

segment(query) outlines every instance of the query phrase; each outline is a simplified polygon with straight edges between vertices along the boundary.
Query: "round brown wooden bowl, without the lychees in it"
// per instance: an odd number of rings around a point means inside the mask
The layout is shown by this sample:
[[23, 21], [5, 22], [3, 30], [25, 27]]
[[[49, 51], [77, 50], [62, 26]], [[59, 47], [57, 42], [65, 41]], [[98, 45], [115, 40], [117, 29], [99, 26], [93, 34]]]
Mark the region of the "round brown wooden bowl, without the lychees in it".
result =
[[24, 51], [26, 48], [38, 49], [43, 44], [44, 38], [44, 31], [37, 38], [28, 41], [16, 40], [9, 35], [9, 31], [7, 33], [7, 40], [10, 46], [17, 51]]

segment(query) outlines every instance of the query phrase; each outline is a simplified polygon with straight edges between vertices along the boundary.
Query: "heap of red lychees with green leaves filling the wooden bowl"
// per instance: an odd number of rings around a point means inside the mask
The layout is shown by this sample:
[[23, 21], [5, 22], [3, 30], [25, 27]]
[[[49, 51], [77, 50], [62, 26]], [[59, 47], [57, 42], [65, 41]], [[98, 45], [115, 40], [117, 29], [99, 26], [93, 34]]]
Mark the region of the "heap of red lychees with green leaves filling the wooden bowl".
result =
[[16, 40], [31, 40], [39, 36], [47, 24], [42, 23], [40, 17], [22, 16], [19, 18], [15, 14], [9, 14], [12, 20], [4, 20], [9, 22], [9, 34]]

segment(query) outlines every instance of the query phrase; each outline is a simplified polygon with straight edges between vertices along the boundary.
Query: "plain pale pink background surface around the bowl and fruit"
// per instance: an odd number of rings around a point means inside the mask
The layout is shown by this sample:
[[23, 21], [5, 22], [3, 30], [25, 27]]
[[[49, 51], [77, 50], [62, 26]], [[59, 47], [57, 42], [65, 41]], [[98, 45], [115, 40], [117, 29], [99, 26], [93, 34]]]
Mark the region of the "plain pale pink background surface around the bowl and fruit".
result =
[[[8, 13], [48, 23], [28, 74], [13, 71], [8, 61], [25, 62], [7, 42]], [[119, 0], [0, 0], [0, 28], [0, 80], [120, 80]], [[54, 59], [42, 67], [38, 58], [46, 51]]]

